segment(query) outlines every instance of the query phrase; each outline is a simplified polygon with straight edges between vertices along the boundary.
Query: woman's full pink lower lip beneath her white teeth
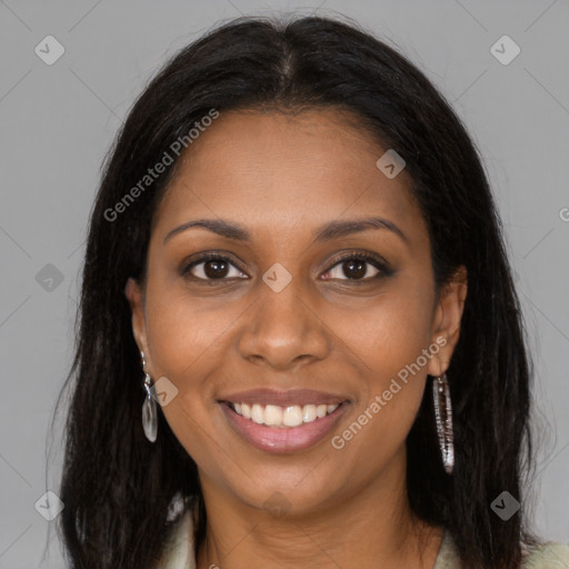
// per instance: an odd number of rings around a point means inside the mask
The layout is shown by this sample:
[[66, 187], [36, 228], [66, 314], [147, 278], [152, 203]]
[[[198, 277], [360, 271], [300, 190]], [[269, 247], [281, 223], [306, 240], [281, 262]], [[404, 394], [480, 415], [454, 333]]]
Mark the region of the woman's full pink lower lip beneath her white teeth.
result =
[[267, 427], [238, 415], [228, 403], [220, 403], [229, 425], [247, 442], [266, 452], [298, 452], [309, 449], [322, 440], [346, 412], [343, 402], [332, 413], [298, 427]]

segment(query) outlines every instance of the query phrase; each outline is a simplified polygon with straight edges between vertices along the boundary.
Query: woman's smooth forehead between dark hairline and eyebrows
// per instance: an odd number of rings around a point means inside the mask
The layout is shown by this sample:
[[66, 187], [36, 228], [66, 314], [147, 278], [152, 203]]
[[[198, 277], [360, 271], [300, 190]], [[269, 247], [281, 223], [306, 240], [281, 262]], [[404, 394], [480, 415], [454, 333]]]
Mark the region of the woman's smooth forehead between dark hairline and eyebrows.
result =
[[282, 238], [370, 213], [418, 227], [407, 172], [389, 179], [376, 166], [386, 150], [355, 114], [338, 109], [221, 113], [180, 158], [156, 231], [220, 217]]

